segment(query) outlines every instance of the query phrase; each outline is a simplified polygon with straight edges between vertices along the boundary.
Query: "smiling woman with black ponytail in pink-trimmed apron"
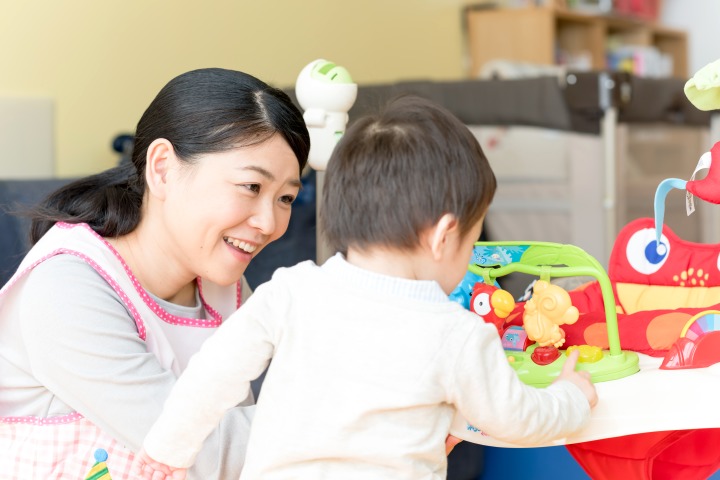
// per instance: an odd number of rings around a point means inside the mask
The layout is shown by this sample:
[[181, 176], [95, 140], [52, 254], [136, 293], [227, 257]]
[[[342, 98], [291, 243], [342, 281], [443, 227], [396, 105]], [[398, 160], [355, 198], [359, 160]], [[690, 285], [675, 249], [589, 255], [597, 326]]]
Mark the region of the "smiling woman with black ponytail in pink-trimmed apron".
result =
[[[84, 478], [102, 448], [128, 476], [188, 358], [249, 295], [248, 263], [285, 232], [309, 146], [282, 91], [195, 70], [145, 111], [131, 163], [34, 212], [0, 290], [2, 475]], [[225, 417], [191, 478], [237, 478], [251, 416]]]

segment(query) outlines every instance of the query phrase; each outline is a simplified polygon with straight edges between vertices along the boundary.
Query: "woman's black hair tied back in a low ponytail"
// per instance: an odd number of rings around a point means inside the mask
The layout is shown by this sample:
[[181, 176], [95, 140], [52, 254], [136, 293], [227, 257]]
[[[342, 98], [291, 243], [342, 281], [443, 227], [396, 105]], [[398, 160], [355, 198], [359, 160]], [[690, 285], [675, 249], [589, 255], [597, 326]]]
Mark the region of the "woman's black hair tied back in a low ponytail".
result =
[[187, 162], [201, 155], [264, 142], [281, 135], [300, 171], [310, 136], [290, 97], [247, 73], [206, 68], [183, 73], [158, 93], [137, 124], [131, 162], [81, 178], [32, 209], [31, 242], [55, 222], [87, 223], [103, 237], [132, 232], [140, 222], [148, 147], [168, 140]]

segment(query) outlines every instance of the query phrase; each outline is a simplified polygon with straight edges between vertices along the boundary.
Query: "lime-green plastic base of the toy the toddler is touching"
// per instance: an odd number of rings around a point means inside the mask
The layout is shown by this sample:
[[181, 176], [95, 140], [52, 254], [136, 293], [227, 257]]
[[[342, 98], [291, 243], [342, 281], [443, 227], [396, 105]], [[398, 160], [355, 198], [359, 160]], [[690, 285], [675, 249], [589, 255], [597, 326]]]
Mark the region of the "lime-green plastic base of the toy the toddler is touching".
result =
[[[561, 355], [552, 363], [538, 365], [531, 358], [536, 347], [536, 344], [530, 345], [524, 352], [506, 350], [505, 356], [525, 384], [546, 387], [560, 375], [567, 355], [561, 350]], [[610, 355], [609, 351], [602, 350], [602, 358], [593, 362], [585, 362], [580, 358], [576, 368], [590, 372], [594, 383], [617, 380], [640, 371], [637, 354], [624, 350], [620, 355]]]

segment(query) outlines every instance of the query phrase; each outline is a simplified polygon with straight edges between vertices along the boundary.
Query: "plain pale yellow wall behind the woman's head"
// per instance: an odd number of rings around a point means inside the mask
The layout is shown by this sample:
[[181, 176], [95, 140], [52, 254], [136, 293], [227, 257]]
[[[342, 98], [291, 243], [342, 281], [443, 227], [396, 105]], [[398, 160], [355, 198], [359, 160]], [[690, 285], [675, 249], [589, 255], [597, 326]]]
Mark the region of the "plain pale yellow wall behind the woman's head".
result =
[[464, 3], [0, 0], [0, 95], [53, 98], [57, 174], [85, 175], [114, 165], [115, 135], [194, 68], [243, 70], [278, 87], [316, 58], [358, 83], [462, 78]]

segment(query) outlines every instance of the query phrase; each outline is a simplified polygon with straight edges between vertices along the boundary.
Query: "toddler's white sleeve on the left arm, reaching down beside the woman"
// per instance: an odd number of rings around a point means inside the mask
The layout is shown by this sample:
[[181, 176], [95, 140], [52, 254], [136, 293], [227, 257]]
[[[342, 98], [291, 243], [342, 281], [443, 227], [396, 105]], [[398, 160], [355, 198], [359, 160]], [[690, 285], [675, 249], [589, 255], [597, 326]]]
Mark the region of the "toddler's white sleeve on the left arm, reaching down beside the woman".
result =
[[225, 412], [248, 395], [274, 351], [271, 288], [260, 286], [190, 359], [143, 443], [151, 458], [189, 467]]

